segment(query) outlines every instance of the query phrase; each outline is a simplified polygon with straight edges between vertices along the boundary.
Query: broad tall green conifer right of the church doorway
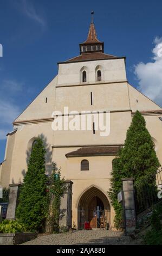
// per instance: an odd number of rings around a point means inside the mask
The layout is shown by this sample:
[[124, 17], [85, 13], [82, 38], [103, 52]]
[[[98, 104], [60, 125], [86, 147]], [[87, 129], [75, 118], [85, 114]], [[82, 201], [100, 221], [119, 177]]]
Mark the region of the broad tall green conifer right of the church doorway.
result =
[[113, 160], [111, 189], [109, 198], [115, 210], [115, 226], [121, 227], [122, 205], [117, 195], [122, 189], [122, 178], [134, 178], [135, 184], [147, 180], [147, 184], [155, 185], [155, 173], [160, 163], [154, 150], [151, 135], [146, 129], [144, 117], [137, 111], [127, 130], [124, 147]]

